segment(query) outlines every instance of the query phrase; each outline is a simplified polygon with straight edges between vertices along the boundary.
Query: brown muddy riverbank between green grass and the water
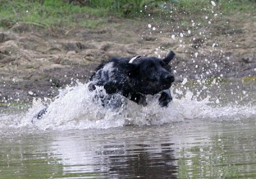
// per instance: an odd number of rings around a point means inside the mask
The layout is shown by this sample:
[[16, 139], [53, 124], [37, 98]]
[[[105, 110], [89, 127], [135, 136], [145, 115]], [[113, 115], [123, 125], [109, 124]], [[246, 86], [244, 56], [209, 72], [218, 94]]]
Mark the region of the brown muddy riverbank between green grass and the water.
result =
[[176, 81], [184, 78], [256, 76], [256, 18], [252, 14], [191, 20], [108, 18], [96, 29], [40, 29], [20, 22], [0, 29], [0, 102], [53, 97], [113, 56], [154, 55], [173, 50]]

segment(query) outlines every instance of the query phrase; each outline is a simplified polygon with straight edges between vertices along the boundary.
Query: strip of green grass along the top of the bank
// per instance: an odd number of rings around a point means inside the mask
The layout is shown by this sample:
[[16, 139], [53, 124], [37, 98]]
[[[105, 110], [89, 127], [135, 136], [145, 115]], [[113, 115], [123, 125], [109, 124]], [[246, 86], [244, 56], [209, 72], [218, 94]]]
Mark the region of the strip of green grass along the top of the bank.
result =
[[[147, 8], [146, 8], [147, 7]], [[212, 6], [206, 0], [90, 0], [86, 6], [69, 4], [61, 0], [1, 0], [0, 27], [10, 28], [23, 22], [45, 28], [58, 27], [99, 27], [104, 25], [106, 18], [145, 17], [170, 20], [170, 13], [183, 19], [186, 25], [188, 17], [202, 18], [202, 15], [218, 11], [222, 13], [255, 13], [256, 2], [250, 0], [218, 1]], [[177, 20], [176, 19], [176, 20]]]

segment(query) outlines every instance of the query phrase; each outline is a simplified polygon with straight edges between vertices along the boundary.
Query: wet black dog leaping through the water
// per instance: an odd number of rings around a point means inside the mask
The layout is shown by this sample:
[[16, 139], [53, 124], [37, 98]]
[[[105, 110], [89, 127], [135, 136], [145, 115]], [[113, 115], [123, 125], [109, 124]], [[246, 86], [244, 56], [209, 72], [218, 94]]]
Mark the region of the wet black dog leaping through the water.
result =
[[90, 90], [103, 86], [108, 94], [120, 93], [138, 104], [146, 104], [145, 95], [161, 92], [159, 104], [172, 101], [170, 87], [174, 76], [168, 63], [174, 53], [163, 60], [156, 57], [112, 58], [101, 64], [90, 78]]

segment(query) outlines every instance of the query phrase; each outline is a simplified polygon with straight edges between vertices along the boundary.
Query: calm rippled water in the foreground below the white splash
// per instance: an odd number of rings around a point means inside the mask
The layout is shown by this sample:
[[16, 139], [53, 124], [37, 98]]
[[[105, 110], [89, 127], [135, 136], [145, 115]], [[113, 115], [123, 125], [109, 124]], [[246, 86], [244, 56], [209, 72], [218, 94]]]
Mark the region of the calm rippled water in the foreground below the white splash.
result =
[[255, 178], [255, 118], [4, 134], [0, 178]]

